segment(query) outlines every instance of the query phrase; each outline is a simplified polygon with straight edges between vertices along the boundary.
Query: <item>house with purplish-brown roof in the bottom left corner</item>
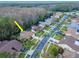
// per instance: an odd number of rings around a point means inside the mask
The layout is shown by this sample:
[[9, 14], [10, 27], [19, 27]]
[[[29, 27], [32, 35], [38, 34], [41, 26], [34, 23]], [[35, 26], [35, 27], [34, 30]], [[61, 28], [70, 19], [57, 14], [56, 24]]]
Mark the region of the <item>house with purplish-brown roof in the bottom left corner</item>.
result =
[[17, 40], [0, 41], [0, 52], [20, 52], [22, 44]]

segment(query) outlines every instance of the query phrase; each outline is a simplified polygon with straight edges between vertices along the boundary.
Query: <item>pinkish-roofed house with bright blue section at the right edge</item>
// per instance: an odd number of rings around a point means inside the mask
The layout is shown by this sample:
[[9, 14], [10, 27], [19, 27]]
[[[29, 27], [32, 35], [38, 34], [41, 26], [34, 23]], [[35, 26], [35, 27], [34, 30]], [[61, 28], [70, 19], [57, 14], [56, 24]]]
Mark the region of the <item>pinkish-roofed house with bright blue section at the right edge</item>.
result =
[[79, 38], [79, 24], [72, 22], [69, 26], [65, 35]]

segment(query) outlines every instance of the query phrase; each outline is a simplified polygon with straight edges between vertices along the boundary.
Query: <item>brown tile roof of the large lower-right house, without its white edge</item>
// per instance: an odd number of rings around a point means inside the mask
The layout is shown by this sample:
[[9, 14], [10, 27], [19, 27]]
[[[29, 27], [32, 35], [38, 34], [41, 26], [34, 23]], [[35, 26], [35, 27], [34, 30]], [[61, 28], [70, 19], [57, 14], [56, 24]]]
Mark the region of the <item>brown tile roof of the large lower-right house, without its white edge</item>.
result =
[[79, 46], [75, 44], [75, 39], [74, 37], [67, 36], [65, 39], [60, 40], [59, 44], [67, 44], [70, 46], [73, 50], [79, 51]]

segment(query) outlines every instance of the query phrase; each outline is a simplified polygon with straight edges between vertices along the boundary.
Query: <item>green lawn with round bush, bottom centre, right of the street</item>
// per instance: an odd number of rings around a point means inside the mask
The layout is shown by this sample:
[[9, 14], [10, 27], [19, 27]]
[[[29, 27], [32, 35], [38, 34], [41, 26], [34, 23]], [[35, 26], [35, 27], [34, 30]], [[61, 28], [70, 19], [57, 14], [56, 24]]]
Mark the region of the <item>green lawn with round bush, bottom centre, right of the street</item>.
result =
[[42, 54], [42, 57], [44, 58], [55, 58], [59, 53], [59, 47], [55, 44], [50, 44], [50, 47], [48, 48], [47, 52], [44, 52]]

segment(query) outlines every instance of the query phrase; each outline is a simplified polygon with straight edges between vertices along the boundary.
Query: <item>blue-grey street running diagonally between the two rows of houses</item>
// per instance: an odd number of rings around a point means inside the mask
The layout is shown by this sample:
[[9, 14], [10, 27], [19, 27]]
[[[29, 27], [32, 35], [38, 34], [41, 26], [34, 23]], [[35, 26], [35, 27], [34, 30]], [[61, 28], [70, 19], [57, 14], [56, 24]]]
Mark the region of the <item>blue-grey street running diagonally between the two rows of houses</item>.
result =
[[[68, 17], [66, 15], [63, 16], [63, 18], [60, 20], [60, 22], [57, 24], [57, 26], [62, 26], [62, 22], [64, 22]], [[54, 31], [54, 34], [57, 30], [55, 30], [55, 28], [57, 28], [57, 26], [55, 26], [52, 31]], [[52, 34], [52, 31], [50, 31], [50, 33]], [[38, 52], [41, 52], [44, 45], [46, 44], [46, 42], [49, 40], [50, 35], [49, 33], [47, 33], [48, 36], [45, 36], [42, 41], [39, 43], [39, 45], [37, 46], [37, 48], [35, 49], [35, 51], [33, 52], [33, 54], [31, 55], [31, 58], [37, 58], [38, 56]]]

